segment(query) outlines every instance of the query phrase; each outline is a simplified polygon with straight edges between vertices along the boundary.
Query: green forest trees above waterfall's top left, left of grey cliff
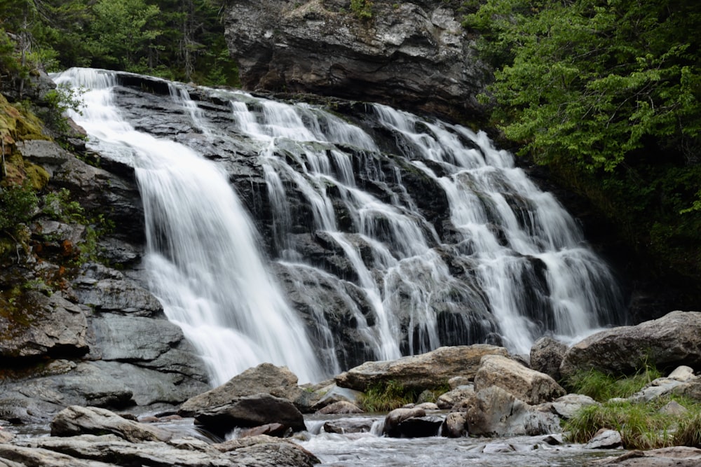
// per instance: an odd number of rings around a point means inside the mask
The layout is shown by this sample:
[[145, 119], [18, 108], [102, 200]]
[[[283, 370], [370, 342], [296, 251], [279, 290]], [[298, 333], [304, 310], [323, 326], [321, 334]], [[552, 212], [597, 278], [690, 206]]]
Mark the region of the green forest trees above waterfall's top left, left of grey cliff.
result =
[[[203, 85], [236, 85], [223, 0], [3, 0], [4, 67], [107, 68]], [[9, 45], [11, 34], [18, 47]], [[9, 53], [19, 54], [8, 60]], [[6, 57], [4, 60], [3, 57]]]

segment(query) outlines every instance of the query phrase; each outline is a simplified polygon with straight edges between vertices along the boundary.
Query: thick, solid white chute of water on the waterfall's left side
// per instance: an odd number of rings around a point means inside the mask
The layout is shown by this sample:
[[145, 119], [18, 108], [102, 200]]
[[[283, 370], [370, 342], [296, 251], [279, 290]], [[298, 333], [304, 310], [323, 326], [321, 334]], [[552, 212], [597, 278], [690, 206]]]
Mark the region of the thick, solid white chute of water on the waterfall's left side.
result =
[[103, 154], [135, 167], [151, 291], [202, 354], [212, 383], [261, 362], [287, 365], [301, 381], [320, 379], [304, 328], [266, 271], [226, 174], [186, 146], [135, 131], [112, 103], [109, 72], [70, 69], [54, 79], [89, 90], [74, 120]]

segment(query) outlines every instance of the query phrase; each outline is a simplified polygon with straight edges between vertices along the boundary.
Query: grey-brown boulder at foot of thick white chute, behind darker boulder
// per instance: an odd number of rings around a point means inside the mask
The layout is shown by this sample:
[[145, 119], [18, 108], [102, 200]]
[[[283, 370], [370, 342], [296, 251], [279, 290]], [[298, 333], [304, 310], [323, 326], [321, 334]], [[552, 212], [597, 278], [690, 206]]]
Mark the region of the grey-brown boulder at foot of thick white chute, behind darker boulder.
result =
[[193, 417], [213, 407], [231, 403], [243, 396], [266, 393], [275, 398], [290, 401], [304, 396], [304, 390], [297, 386], [297, 376], [287, 367], [272, 363], [261, 363], [229, 379], [221, 386], [186, 400], [179, 408], [182, 417]]

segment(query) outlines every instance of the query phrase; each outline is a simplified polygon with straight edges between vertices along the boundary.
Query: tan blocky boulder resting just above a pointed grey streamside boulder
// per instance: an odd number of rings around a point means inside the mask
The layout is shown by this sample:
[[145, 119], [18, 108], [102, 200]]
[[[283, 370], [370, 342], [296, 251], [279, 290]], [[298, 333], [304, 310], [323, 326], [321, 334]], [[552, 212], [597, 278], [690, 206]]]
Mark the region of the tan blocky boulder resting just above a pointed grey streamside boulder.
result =
[[475, 391], [499, 386], [525, 403], [537, 405], [564, 396], [552, 377], [501, 355], [485, 355], [475, 375]]

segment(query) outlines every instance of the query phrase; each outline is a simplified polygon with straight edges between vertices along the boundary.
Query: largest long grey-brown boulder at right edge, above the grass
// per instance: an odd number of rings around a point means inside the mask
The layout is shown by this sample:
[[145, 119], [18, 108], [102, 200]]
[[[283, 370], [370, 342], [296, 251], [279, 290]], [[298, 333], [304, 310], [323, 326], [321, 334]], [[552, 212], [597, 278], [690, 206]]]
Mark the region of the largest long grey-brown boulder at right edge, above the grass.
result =
[[565, 354], [563, 377], [577, 370], [633, 373], [646, 363], [672, 370], [688, 365], [701, 370], [701, 312], [671, 312], [637, 326], [621, 326], [590, 335]]

